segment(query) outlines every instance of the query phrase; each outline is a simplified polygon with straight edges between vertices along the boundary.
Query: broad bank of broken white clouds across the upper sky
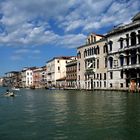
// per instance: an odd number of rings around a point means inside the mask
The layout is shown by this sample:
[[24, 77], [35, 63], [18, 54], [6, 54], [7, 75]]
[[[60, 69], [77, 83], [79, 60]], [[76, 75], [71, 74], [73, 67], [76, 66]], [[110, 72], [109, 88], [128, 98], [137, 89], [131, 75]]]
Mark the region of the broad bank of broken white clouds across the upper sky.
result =
[[77, 47], [85, 33], [128, 23], [139, 10], [139, 0], [5, 0], [0, 44]]

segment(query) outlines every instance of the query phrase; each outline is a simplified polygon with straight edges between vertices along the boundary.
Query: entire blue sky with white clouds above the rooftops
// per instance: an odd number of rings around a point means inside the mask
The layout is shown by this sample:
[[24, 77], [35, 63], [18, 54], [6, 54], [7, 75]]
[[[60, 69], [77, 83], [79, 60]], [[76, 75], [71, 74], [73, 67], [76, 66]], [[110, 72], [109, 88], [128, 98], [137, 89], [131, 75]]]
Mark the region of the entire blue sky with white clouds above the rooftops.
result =
[[0, 0], [0, 76], [76, 55], [88, 34], [105, 34], [139, 11], [139, 0]]

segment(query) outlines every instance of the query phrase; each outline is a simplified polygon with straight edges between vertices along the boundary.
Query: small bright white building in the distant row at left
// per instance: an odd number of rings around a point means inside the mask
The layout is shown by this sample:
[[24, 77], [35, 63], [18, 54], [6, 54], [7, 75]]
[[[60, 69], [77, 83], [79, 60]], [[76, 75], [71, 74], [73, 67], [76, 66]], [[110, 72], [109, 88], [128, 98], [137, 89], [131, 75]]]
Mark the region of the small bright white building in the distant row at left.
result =
[[22, 77], [22, 87], [32, 87], [33, 86], [33, 70], [36, 67], [24, 68], [21, 71]]

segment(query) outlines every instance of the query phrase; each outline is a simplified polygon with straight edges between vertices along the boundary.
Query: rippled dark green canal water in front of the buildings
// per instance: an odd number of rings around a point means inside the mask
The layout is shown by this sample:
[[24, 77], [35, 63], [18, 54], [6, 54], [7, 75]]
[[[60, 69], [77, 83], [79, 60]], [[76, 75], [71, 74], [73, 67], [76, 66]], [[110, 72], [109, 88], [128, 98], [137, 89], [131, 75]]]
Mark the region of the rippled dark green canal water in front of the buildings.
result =
[[0, 140], [139, 140], [140, 94], [0, 88]]

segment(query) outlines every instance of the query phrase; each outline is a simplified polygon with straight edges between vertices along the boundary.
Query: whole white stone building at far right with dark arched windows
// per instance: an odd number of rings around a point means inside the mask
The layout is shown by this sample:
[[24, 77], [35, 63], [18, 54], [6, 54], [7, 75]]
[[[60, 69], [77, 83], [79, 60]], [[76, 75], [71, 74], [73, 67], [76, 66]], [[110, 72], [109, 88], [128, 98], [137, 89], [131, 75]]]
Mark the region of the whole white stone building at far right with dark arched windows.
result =
[[136, 90], [140, 87], [140, 13], [132, 22], [107, 34], [108, 87]]

